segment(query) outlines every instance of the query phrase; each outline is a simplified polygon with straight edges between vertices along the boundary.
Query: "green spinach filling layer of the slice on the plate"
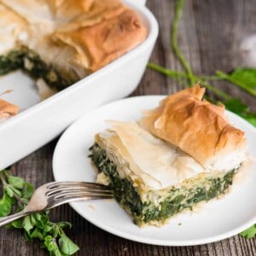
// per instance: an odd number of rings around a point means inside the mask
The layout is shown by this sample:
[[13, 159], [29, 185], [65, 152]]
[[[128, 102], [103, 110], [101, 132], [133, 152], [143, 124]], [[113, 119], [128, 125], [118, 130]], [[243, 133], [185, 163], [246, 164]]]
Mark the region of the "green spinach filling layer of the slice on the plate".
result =
[[150, 222], [164, 223], [167, 218], [184, 209], [192, 210], [195, 204], [218, 197], [232, 184], [232, 178], [236, 173], [236, 170], [205, 173], [201, 177], [184, 181], [178, 187], [148, 191], [146, 199], [142, 199], [132, 181], [119, 176], [117, 166], [109, 159], [104, 149], [95, 143], [90, 151], [90, 158], [98, 171], [109, 177], [109, 186], [113, 189], [115, 199], [131, 214], [138, 225]]

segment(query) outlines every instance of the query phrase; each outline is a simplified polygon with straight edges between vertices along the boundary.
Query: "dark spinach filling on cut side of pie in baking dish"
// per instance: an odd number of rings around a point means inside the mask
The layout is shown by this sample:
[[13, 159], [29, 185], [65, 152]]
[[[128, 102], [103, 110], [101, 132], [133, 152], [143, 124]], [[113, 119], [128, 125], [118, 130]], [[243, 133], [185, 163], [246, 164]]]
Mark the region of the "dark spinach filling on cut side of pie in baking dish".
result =
[[51, 88], [63, 90], [76, 80], [61, 75], [61, 71], [45, 63], [32, 49], [20, 47], [0, 55], [0, 75], [21, 69], [33, 79], [42, 78]]

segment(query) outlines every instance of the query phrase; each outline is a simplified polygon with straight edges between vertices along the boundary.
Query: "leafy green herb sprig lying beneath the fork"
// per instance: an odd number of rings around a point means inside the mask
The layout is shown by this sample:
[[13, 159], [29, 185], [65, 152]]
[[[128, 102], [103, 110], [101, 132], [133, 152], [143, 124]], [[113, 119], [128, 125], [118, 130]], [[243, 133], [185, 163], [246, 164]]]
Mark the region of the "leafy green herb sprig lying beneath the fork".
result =
[[[3, 183], [0, 217], [9, 215], [13, 210], [16, 212], [23, 210], [32, 197], [34, 191], [32, 184], [26, 183], [22, 177], [10, 175], [7, 170], [0, 172], [0, 180]], [[63, 230], [71, 228], [71, 224], [64, 221], [51, 222], [49, 211], [30, 214], [6, 225], [6, 228], [24, 230], [28, 241], [33, 239], [42, 241], [49, 255], [73, 255], [79, 250], [79, 247], [67, 237]]]

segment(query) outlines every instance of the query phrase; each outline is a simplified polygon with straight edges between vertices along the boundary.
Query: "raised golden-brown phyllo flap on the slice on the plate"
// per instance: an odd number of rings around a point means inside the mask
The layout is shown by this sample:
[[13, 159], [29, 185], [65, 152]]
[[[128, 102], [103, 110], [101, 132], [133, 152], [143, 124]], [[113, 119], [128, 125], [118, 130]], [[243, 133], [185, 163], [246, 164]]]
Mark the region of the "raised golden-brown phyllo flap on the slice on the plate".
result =
[[204, 93], [196, 84], [167, 96], [158, 108], [143, 112], [140, 125], [207, 169], [231, 169], [246, 158], [244, 132], [229, 123], [224, 105], [203, 100]]

